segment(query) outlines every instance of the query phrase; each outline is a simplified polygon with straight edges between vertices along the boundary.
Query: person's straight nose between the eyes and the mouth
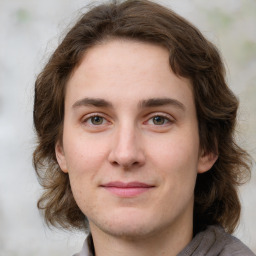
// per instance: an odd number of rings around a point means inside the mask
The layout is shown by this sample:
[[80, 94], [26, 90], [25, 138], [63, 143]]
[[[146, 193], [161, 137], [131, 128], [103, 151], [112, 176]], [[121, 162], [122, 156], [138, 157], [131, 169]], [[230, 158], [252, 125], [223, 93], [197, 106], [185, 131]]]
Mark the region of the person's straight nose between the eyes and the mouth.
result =
[[135, 127], [123, 126], [114, 134], [109, 153], [109, 162], [123, 169], [140, 167], [145, 163], [145, 154], [139, 131]]

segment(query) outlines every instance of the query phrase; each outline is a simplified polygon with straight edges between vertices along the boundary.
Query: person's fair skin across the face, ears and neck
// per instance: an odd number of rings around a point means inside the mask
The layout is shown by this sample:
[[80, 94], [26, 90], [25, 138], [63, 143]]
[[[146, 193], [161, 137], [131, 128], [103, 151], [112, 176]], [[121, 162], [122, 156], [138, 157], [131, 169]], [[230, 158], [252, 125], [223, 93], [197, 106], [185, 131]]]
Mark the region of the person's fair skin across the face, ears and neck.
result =
[[[216, 156], [200, 151], [191, 83], [168, 61], [160, 46], [110, 40], [67, 84], [56, 156], [98, 256], [176, 255], [192, 239], [196, 176]], [[116, 194], [116, 181], [148, 187]]]

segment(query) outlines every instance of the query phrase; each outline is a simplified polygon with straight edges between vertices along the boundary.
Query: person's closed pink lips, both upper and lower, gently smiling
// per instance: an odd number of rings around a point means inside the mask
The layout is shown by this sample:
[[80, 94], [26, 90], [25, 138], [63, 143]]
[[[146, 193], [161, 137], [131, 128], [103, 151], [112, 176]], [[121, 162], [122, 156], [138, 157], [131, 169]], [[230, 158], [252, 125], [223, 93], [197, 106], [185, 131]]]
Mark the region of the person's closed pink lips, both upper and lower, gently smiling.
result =
[[135, 197], [138, 196], [152, 188], [154, 186], [141, 183], [141, 182], [129, 182], [124, 183], [120, 181], [109, 182], [107, 184], [101, 185], [112, 194], [115, 194], [119, 197]]

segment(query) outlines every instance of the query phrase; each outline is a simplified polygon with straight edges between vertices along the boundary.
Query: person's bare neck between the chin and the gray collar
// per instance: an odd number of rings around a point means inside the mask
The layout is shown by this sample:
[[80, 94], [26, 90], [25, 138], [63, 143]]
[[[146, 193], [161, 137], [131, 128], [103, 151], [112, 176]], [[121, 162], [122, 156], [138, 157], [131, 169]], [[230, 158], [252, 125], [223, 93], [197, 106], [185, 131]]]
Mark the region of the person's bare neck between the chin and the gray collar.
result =
[[[157, 231], [147, 236], [122, 237], [91, 227], [96, 256], [175, 256], [192, 240], [193, 225]], [[171, 230], [171, 231], [170, 231]]]

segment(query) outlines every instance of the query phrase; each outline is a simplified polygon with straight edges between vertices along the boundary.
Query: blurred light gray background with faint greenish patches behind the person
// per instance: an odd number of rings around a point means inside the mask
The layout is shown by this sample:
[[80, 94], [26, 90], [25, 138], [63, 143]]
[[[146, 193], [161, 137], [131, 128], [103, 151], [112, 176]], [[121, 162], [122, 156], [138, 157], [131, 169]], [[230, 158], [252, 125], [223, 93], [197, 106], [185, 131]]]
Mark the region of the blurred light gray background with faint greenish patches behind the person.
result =
[[[192, 21], [220, 48], [228, 82], [241, 99], [238, 138], [255, 159], [256, 1], [158, 2]], [[68, 256], [82, 246], [83, 234], [47, 229], [36, 208], [41, 189], [31, 164], [32, 106], [36, 75], [87, 4], [86, 0], [0, 0], [0, 256]], [[253, 175], [241, 188], [244, 211], [236, 233], [254, 252], [255, 184]]]

